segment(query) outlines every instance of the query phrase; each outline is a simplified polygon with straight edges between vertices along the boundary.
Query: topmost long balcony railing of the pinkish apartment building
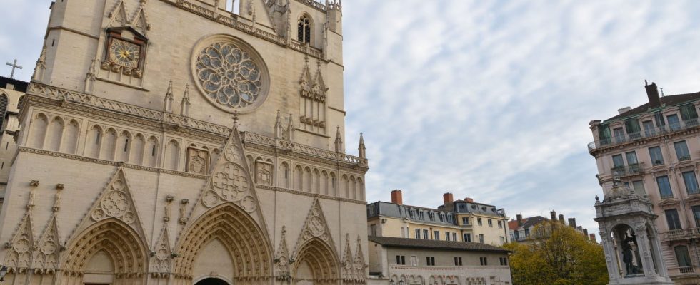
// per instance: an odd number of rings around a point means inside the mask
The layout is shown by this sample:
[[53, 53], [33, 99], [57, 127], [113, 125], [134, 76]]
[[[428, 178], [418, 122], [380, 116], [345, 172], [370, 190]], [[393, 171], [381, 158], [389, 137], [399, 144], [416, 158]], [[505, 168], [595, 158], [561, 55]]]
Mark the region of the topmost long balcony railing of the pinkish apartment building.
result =
[[613, 135], [612, 138], [604, 138], [597, 140], [588, 144], [589, 152], [596, 150], [600, 147], [609, 147], [612, 145], [621, 145], [626, 142], [633, 142], [635, 140], [641, 140], [645, 138], [654, 138], [658, 135], [666, 135], [669, 133], [675, 133], [681, 130], [687, 130], [690, 128], [696, 128], [700, 125], [700, 119], [694, 118], [691, 120], [684, 120], [682, 123], [674, 123], [670, 125], [662, 125], [661, 127], [646, 128], [636, 133], [625, 133], [622, 135]]

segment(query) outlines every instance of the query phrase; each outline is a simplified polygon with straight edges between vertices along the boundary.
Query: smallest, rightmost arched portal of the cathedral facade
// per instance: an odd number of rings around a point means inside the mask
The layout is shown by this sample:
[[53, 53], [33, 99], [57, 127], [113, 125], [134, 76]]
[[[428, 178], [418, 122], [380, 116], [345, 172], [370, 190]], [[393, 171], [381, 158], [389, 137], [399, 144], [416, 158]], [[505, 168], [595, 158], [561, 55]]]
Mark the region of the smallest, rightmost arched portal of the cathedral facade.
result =
[[338, 264], [334, 250], [314, 237], [297, 250], [292, 278], [296, 284], [336, 284], [340, 279]]

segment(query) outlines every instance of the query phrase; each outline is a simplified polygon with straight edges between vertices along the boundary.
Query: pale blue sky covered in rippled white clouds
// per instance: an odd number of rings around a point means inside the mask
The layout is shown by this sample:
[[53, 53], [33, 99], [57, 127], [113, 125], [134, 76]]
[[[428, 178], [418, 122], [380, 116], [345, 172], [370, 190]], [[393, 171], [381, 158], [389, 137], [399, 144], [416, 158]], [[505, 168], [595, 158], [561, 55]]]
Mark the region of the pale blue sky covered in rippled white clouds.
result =
[[[29, 80], [47, 0], [2, 0], [0, 63]], [[589, 121], [700, 91], [699, 1], [346, 0], [346, 149], [364, 133], [367, 201], [554, 209], [597, 232]], [[7, 9], [6, 9], [7, 10]], [[0, 66], [8, 76], [9, 66]]]

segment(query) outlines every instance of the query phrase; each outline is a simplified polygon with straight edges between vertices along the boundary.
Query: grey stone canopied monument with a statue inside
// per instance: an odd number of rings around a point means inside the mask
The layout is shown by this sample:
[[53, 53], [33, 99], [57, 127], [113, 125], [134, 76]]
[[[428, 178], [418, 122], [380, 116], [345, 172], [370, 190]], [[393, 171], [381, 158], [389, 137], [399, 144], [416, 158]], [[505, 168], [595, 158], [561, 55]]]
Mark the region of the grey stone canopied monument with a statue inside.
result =
[[615, 177], [603, 202], [596, 196], [596, 222], [611, 285], [674, 284], [661, 260], [656, 214], [649, 196], [636, 194]]

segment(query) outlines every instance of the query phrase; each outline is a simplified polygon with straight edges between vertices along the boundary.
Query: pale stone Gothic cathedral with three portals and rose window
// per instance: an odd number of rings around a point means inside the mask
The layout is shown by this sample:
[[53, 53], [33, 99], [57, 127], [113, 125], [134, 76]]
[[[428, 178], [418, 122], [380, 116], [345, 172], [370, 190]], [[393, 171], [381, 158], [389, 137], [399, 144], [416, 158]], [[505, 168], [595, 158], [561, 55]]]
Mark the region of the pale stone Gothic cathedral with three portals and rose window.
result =
[[17, 105], [4, 284], [365, 284], [341, 14], [55, 0]]

